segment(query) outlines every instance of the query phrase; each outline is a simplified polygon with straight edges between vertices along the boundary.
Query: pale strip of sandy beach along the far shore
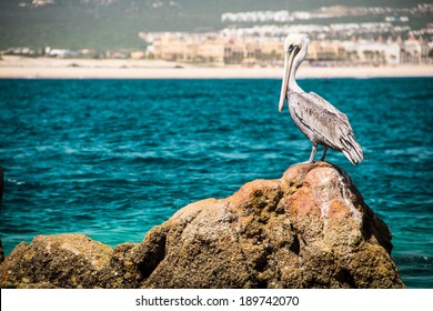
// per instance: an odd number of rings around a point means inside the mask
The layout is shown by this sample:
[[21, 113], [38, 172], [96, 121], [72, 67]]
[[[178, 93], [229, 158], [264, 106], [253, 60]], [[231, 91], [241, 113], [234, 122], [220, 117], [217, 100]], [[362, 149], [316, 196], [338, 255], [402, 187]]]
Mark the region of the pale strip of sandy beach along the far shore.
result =
[[[200, 67], [150, 60], [92, 60], [3, 56], [0, 78], [7, 79], [249, 79], [281, 78], [281, 68]], [[298, 78], [433, 77], [433, 64], [396, 67], [302, 66]]]

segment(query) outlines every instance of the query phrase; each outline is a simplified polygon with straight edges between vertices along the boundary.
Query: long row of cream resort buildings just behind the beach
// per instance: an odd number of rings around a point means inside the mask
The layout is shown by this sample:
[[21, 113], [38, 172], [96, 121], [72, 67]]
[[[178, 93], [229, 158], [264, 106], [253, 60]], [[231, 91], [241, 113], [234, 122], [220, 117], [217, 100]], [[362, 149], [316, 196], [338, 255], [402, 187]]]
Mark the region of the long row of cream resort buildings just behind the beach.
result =
[[[246, 67], [282, 66], [284, 36], [265, 32], [242, 32], [239, 29], [220, 32], [153, 32], [142, 33], [149, 43], [148, 57], [180, 62], [212, 62]], [[272, 29], [268, 29], [272, 30]], [[376, 39], [312, 40], [306, 60], [313, 66], [396, 66], [432, 63], [432, 47], [422, 37], [407, 40], [390, 36]]]

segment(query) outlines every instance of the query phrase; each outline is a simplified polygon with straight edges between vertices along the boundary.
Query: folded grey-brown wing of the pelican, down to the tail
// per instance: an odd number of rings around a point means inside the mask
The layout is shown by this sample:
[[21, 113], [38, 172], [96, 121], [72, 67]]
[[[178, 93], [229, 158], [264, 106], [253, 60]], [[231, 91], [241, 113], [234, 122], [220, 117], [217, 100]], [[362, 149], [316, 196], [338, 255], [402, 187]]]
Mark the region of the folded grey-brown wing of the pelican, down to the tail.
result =
[[[354, 139], [348, 117], [315, 93], [292, 93], [294, 118], [319, 141], [335, 150], [342, 150], [353, 162], [363, 159], [361, 147]], [[350, 154], [349, 154], [350, 153]]]

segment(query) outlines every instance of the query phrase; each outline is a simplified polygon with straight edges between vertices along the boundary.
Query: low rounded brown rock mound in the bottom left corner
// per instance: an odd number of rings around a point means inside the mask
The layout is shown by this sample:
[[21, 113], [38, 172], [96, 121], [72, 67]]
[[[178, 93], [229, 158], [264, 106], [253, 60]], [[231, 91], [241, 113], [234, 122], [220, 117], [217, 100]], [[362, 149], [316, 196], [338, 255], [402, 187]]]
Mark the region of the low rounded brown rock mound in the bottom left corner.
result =
[[113, 250], [83, 234], [37, 235], [1, 265], [2, 287], [92, 288]]

